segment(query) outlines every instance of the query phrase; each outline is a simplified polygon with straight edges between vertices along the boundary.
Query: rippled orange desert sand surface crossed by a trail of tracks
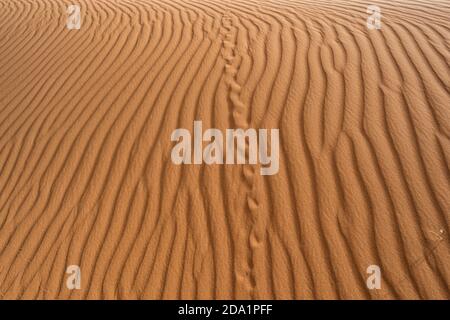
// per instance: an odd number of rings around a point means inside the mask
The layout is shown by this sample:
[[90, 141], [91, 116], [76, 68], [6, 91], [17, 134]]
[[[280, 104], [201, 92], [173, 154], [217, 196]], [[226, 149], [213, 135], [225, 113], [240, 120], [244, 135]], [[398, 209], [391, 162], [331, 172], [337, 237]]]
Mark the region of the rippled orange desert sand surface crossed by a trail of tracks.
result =
[[[450, 2], [77, 3], [0, 0], [1, 297], [450, 298]], [[278, 174], [174, 165], [194, 120]]]

